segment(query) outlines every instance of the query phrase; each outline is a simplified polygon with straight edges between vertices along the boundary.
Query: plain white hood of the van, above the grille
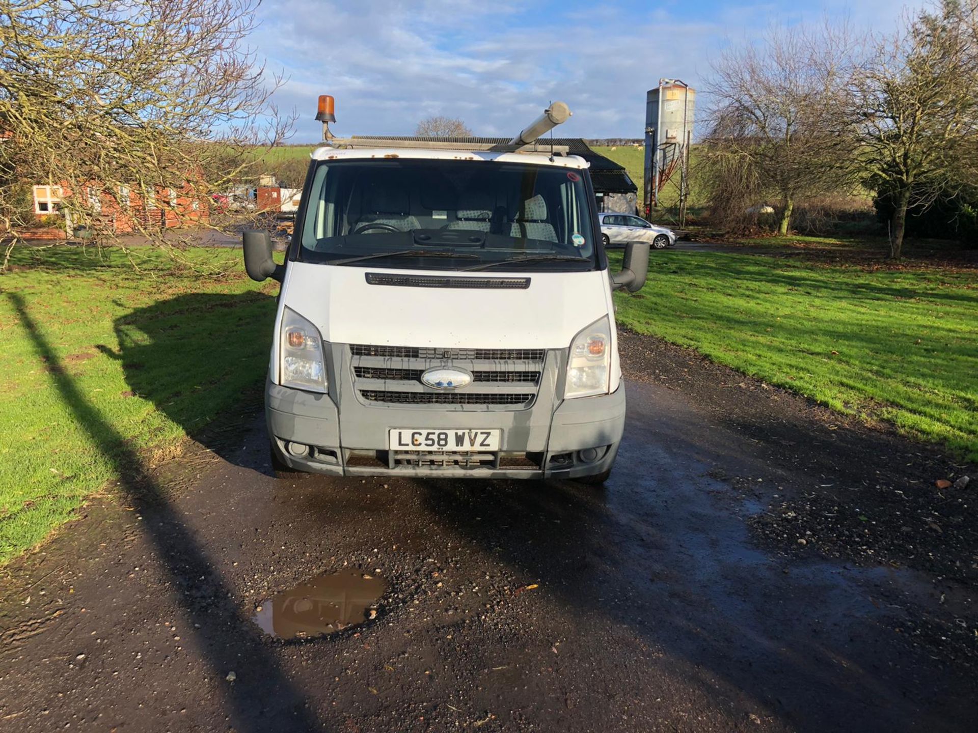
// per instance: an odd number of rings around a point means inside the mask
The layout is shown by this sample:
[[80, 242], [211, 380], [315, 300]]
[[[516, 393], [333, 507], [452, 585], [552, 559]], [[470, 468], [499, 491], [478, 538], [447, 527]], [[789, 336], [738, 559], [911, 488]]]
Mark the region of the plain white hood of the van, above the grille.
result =
[[[530, 281], [520, 289], [417, 287], [371, 284], [368, 274]], [[326, 341], [384, 346], [564, 349], [608, 314], [610, 302], [606, 271], [460, 273], [293, 261], [282, 285], [282, 304]]]

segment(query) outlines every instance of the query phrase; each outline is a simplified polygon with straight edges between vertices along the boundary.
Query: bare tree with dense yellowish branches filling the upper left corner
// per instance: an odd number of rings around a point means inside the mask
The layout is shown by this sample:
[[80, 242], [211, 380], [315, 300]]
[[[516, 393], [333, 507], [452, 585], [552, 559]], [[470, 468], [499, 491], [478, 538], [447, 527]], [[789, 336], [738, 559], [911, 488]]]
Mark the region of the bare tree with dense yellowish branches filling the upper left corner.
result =
[[280, 80], [244, 47], [255, 2], [0, 0], [3, 267], [31, 218], [24, 186], [60, 191], [75, 224], [97, 223], [108, 197], [162, 241], [137, 208], [197, 219], [172, 200], [206, 206], [286, 135], [269, 102]]

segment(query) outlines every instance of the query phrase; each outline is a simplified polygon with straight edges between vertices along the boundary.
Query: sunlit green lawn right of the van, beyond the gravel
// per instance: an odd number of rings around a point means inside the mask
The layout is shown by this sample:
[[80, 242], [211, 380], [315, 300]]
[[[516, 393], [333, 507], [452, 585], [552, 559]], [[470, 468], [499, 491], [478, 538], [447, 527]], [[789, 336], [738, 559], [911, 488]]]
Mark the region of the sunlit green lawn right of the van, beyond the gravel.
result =
[[654, 252], [641, 293], [615, 297], [635, 331], [978, 459], [973, 271]]

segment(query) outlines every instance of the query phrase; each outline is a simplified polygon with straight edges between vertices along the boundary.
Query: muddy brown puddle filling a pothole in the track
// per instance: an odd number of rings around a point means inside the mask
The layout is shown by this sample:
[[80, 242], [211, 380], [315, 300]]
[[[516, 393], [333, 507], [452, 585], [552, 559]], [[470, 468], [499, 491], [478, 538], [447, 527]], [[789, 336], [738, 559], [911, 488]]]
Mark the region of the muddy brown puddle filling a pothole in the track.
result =
[[375, 618], [386, 587], [364, 573], [324, 573], [259, 604], [253, 621], [277, 639], [325, 636]]

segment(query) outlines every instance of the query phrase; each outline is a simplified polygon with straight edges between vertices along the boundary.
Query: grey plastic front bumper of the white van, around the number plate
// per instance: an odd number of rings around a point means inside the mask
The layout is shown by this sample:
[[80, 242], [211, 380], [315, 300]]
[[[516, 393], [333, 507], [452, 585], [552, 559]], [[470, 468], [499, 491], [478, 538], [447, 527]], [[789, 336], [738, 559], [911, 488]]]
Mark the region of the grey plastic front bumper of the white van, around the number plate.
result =
[[[347, 403], [343, 406], [347, 410]], [[538, 399], [526, 410], [365, 408], [352, 399], [348, 409], [352, 419], [341, 419], [330, 395], [266, 383], [273, 450], [295, 470], [332, 476], [510, 479], [580, 478], [609, 470], [625, 426], [625, 389], [622, 384], [611, 395], [556, 403]], [[479, 454], [474, 462], [458, 456], [439, 459], [437, 453], [408, 460], [387, 450], [388, 430], [398, 427], [498, 428], [503, 431], [501, 451]], [[289, 443], [310, 447], [308, 454], [290, 454]]]

